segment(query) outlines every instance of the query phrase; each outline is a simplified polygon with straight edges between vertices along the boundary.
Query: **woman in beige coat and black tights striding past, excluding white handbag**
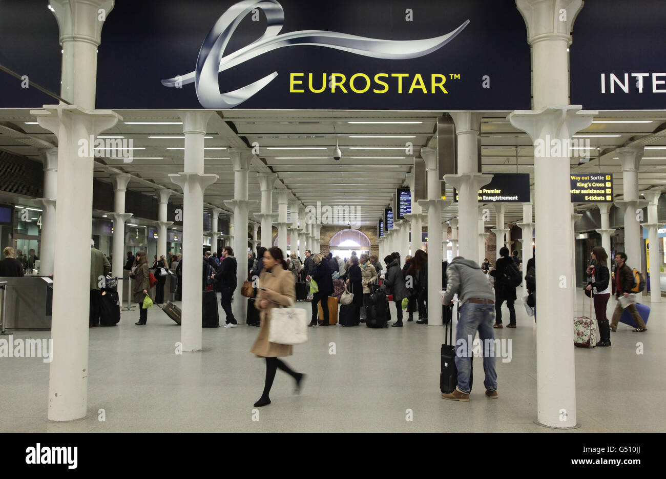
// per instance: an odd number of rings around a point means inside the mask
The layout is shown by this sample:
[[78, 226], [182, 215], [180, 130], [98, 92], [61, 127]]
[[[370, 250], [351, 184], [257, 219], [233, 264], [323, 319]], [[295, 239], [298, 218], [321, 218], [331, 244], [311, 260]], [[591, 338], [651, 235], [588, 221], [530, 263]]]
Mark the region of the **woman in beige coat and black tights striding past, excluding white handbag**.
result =
[[294, 276], [286, 270], [286, 262], [280, 248], [270, 248], [264, 253], [264, 269], [259, 276], [259, 288], [254, 306], [260, 310], [261, 329], [250, 350], [257, 356], [266, 358], [266, 384], [261, 398], [254, 403], [255, 408], [270, 404], [270, 388], [273, 386], [276, 370], [280, 369], [296, 381], [296, 392], [300, 392], [305, 374], [294, 372], [285, 362], [278, 359], [292, 355], [290, 344], [268, 342], [270, 312], [273, 308], [294, 306]]

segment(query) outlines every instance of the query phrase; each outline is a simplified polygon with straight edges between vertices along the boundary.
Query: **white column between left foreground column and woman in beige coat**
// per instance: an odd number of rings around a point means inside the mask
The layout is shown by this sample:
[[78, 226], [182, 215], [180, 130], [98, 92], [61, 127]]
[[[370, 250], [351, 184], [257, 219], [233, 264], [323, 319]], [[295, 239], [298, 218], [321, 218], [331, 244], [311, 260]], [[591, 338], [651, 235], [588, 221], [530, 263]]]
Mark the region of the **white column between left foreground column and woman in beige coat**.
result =
[[201, 350], [201, 240], [204, 189], [218, 175], [204, 174], [204, 135], [212, 111], [180, 111], [185, 135], [184, 171], [169, 178], [182, 188], [182, 350]]

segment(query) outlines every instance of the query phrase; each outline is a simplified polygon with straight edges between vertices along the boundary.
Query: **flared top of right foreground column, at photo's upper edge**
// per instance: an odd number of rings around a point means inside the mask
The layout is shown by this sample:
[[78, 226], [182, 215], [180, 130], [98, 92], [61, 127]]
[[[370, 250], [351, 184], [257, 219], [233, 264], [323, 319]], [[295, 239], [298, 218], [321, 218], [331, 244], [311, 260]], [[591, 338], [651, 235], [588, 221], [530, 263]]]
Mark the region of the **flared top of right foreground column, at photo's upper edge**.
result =
[[573, 22], [583, 6], [583, 1], [515, 0], [515, 6], [525, 20], [527, 41], [530, 45], [553, 38], [563, 39], [570, 45]]

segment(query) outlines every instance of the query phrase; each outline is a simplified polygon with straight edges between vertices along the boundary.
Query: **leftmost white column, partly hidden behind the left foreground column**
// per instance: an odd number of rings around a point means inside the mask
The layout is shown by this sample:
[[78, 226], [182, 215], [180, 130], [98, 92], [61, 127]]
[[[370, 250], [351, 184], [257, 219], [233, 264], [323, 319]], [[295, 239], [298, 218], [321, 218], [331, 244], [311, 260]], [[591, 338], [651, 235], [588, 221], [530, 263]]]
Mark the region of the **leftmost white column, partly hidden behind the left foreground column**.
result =
[[[40, 151], [44, 161], [44, 191], [41, 203], [42, 226], [41, 244], [39, 249], [39, 274], [49, 276], [53, 274], [53, 260], [55, 250], [55, 200], [58, 186], [58, 149], [49, 148]], [[122, 261], [121, 258], [120, 261]]]

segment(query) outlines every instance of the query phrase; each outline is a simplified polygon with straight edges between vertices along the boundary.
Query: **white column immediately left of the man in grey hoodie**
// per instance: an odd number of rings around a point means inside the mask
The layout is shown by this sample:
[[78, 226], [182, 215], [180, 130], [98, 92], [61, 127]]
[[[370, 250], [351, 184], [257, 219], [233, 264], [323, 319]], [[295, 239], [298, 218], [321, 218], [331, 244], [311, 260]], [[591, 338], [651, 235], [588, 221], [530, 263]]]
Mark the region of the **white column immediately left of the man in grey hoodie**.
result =
[[442, 199], [437, 150], [422, 148], [421, 156], [426, 163], [428, 179], [428, 199], [419, 201], [421, 207], [428, 208], [428, 326], [442, 326], [442, 210], [451, 201]]

